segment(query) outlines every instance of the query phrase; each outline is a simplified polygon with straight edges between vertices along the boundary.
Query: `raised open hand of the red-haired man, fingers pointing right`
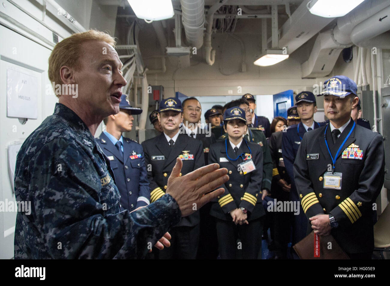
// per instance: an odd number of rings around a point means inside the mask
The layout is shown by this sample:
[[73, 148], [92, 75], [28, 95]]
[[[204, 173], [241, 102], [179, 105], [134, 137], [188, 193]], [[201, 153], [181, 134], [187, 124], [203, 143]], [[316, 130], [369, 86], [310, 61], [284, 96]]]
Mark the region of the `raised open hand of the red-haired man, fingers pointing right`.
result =
[[[213, 189], [223, 185], [229, 176], [226, 168], [219, 168], [218, 164], [210, 164], [196, 169], [184, 176], [179, 176], [183, 162], [176, 159], [176, 165], [168, 178], [167, 194], [170, 194], [179, 205], [181, 216], [192, 214], [205, 203], [223, 194], [224, 189], [220, 188], [213, 192]], [[207, 192], [210, 192], [206, 194]], [[196, 205], [194, 205], [194, 203]]]

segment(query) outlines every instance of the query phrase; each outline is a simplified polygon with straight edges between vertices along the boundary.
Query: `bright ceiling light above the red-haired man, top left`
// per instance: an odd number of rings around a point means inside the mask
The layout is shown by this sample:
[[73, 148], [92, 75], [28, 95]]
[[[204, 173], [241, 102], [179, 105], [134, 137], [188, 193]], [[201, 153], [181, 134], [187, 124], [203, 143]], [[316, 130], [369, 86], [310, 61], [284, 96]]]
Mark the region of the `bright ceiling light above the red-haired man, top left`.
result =
[[135, 16], [145, 20], [163, 20], [175, 14], [171, 0], [128, 0]]

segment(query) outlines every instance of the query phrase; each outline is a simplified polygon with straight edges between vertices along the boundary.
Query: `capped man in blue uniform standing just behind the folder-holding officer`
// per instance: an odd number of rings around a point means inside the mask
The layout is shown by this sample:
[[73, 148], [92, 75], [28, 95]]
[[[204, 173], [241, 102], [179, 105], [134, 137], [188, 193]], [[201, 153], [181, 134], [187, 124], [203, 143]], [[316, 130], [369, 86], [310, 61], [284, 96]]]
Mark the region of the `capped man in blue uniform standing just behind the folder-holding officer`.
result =
[[[287, 174], [291, 178], [291, 201], [299, 201], [298, 193], [294, 184], [293, 164], [301, 144], [303, 135], [313, 129], [320, 127], [320, 124], [314, 121], [314, 113], [317, 112], [316, 96], [309, 91], [300, 92], [295, 97], [297, 113], [301, 122], [297, 125], [289, 126], [282, 135], [282, 156]], [[294, 110], [294, 109], [292, 109]], [[293, 244], [305, 238], [308, 227], [310, 227], [306, 216], [300, 207], [298, 215], [293, 215]]]

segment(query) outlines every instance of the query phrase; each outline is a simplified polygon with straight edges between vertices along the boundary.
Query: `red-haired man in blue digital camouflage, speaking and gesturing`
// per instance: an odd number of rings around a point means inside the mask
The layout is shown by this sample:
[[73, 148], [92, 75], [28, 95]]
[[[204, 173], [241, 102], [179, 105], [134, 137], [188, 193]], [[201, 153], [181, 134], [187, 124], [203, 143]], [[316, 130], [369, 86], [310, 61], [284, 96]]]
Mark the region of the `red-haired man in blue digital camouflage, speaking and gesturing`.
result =
[[94, 139], [103, 118], [119, 112], [126, 85], [114, 47], [110, 35], [89, 30], [51, 52], [50, 81], [78, 85], [78, 93], [58, 96], [53, 115], [18, 153], [16, 200], [31, 201], [32, 209], [16, 215], [16, 259], [144, 258], [154, 244], [169, 246], [166, 232], [193, 212], [193, 203], [200, 208], [223, 193], [203, 196], [229, 179], [227, 169], [212, 164], [179, 177], [177, 160], [167, 194], [134, 212], [121, 211], [110, 160]]

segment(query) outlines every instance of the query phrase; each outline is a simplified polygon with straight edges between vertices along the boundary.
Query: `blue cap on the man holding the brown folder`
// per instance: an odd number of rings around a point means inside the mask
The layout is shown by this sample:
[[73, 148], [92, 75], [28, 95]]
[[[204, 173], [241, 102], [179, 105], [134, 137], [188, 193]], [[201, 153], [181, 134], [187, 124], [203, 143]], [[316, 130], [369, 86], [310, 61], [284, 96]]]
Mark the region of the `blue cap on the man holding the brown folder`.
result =
[[[355, 94], [358, 91], [355, 81], [346, 76], [333, 76], [324, 83], [324, 91], [319, 95], [331, 94], [340, 97]], [[317, 95], [317, 96], [319, 96]]]

